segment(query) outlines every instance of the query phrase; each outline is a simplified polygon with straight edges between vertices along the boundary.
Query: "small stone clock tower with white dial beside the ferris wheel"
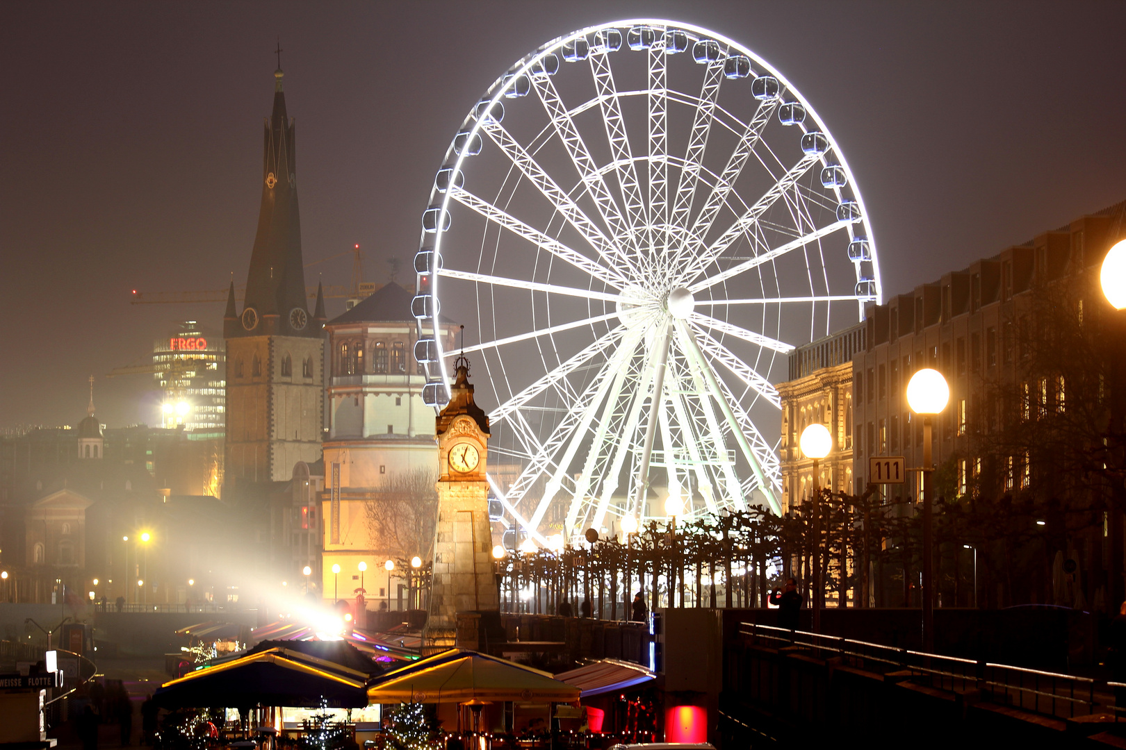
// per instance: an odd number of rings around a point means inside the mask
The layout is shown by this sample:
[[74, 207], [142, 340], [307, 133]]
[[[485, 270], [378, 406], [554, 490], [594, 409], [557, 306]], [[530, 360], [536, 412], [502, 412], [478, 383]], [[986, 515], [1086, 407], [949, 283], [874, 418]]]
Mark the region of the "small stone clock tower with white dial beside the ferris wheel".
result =
[[457, 613], [500, 608], [489, 524], [489, 417], [473, 403], [470, 363], [455, 363], [450, 399], [437, 417], [438, 524], [430, 615], [422, 641], [435, 652], [456, 642]]

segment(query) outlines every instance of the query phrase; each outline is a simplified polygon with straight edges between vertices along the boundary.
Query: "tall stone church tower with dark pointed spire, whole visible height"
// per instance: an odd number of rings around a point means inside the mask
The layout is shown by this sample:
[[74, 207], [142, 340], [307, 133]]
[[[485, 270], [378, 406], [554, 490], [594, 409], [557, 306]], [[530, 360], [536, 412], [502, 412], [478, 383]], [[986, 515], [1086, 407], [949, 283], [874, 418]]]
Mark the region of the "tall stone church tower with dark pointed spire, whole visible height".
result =
[[262, 148], [262, 201], [240, 313], [234, 283], [223, 317], [226, 341], [224, 487], [288, 481], [298, 461], [321, 458], [324, 300], [310, 315], [301, 254], [294, 121], [286, 115], [282, 66]]

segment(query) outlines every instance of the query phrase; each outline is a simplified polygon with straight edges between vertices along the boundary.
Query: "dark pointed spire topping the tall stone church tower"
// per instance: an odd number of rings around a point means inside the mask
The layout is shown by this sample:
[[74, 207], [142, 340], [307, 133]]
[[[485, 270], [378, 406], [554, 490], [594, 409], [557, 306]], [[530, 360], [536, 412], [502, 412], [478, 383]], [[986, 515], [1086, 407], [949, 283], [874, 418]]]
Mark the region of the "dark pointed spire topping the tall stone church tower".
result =
[[286, 114], [282, 76], [279, 60], [274, 72], [274, 111], [262, 138], [262, 200], [247, 296], [241, 320], [227, 337], [319, 335], [309, 325], [297, 208], [296, 128]]

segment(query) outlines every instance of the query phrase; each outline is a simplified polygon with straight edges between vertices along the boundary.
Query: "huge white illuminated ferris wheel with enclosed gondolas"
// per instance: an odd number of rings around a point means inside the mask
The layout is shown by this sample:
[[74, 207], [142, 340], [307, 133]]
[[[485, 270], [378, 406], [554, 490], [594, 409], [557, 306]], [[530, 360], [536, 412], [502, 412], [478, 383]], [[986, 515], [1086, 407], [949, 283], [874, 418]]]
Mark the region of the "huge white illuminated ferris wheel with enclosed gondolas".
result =
[[[465, 322], [490, 482], [540, 543], [628, 517], [780, 512], [772, 380], [879, 301], [829, 129], [750, 49], [629, 20], [525, 56], [473, 107], [415, 256], [426, 398]], [[440, 310], [440, 313], [439, 313]]]

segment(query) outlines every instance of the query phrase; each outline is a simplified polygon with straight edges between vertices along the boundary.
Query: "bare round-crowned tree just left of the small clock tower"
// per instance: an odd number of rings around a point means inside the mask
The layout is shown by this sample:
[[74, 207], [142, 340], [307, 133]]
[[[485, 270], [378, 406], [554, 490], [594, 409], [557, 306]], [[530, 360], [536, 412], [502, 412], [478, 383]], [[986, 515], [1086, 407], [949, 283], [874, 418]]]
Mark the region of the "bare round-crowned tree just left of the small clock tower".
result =
[[387, 475], [364, 508], [372, 546], [404, 560], [430, 555], [438, 521], [435, 481], [432, 469]]

